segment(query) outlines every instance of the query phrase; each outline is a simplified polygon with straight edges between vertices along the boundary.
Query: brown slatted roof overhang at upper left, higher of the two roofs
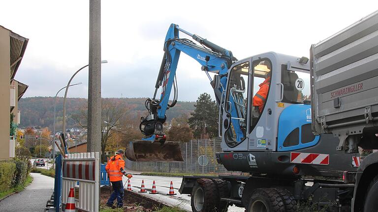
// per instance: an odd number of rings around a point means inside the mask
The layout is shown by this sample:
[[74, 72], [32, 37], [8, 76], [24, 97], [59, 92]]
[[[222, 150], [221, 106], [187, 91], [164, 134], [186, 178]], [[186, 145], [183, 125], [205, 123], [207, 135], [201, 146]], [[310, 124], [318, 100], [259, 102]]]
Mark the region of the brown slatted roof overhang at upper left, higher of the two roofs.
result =
[[[2, 26], [0, 26], [2, 27]], [[9, 31], [10, 36], [10, 79], [14, 79], [18, 67], [21, 64], [21, 60], [24, 56], [26, 46], [28, 45], [29, 39], [12, 32], [11, 30], [2, 27]]]

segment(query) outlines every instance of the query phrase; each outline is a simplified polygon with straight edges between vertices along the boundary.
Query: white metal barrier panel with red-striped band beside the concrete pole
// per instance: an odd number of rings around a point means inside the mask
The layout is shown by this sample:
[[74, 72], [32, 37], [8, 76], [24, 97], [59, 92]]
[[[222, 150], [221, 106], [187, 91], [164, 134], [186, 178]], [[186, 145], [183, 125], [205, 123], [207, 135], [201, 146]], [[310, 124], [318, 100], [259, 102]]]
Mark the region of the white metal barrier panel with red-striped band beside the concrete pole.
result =
[[67, 202], [69, 189], [79, 181], [76, 208], [84, 212], [98, 212], [99, 165], [98, 152], [68, 154], [63, 159], [62, 203]]

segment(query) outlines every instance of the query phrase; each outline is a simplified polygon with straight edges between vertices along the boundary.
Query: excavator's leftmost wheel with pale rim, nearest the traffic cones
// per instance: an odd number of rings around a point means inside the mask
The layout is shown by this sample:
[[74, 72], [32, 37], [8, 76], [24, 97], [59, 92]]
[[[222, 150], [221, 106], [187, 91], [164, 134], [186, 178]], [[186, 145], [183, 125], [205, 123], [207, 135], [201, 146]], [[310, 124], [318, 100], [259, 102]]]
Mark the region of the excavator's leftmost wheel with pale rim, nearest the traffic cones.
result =
[[218, 199], [217, 185], [210, 179], [198, 179], [191, 192], [191, 210], [214, 212]]

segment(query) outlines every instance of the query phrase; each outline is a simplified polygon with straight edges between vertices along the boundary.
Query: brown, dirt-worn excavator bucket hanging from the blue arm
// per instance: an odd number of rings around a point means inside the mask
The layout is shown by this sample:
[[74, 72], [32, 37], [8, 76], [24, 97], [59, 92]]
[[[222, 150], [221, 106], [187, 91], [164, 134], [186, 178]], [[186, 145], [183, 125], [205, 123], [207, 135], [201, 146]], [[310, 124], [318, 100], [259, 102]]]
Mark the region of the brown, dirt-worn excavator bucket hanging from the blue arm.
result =
[[180, 142], [133, 140], [125, 152], [126, 158], [132, 161], [176, 161], [184, 162]]

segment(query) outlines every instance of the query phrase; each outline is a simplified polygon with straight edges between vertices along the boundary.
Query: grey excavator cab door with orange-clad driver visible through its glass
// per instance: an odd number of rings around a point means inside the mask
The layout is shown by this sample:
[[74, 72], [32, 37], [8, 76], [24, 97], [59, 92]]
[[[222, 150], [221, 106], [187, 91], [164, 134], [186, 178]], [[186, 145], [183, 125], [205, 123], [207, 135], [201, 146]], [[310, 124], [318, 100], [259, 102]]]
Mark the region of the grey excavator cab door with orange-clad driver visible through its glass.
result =
[[249, 105], [249, 151], [272, 151], [276, 147], [277, 102], [282, 86], [277, 80], [276, 60], [272, 53], [254, 57], [251, 67], [251, 103]]

